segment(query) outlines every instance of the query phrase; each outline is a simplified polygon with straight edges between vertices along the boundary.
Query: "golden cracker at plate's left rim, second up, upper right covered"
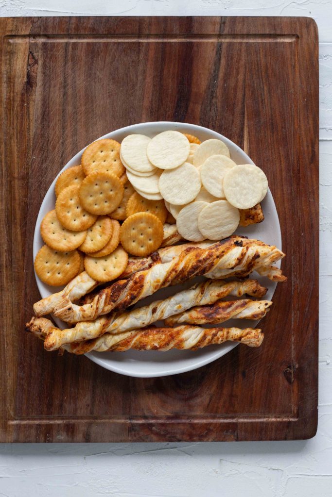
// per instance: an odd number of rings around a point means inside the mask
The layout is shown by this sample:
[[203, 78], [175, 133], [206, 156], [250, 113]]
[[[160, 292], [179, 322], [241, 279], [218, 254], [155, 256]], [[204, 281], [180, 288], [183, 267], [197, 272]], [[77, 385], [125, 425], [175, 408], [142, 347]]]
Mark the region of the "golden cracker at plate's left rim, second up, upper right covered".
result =
[[87, 231], [70, 231], [59, 222], [55, 209], [40, 223], [40, 235], [46, 245], [60, 252], [75, 250], [83, 244]]

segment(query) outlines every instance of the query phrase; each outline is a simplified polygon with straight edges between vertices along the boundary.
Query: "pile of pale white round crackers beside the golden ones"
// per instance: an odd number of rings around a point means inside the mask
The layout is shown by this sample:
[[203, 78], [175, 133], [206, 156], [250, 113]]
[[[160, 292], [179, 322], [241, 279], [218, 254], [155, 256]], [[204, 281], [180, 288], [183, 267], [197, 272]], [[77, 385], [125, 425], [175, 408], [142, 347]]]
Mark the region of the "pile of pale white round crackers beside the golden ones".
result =
[[[169, 212], [165, 219], [175, 221], [179, 234], [191, 242], [229, 237], [240, 219], [248, 218], [242, 211], [257, 206], [267, 192], [264, 172], [251, 164], [237, 165], [217, 139], [201, 143], [171, 130], [152, 139], [129, 135], [121, 143], [120, 157], [136, 194], [147, 202], [164, 201]], [[127, 205], [137, 202], [130, 198]], [[142, 200], [141, 205], [144, 210]], [[164, 222], [164, 214], [150, 212]]]

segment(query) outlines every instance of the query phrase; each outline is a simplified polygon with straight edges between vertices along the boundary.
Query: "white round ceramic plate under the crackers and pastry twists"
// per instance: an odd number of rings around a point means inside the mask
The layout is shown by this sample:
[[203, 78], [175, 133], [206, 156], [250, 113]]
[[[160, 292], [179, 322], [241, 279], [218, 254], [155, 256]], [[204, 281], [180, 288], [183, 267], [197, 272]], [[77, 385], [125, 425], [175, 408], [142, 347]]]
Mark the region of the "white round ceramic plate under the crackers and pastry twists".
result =
[[[200, 138], [201, 141], [208, 140], [209, 138], [220, 139], [226, 143], [230, 151], [230, 157], [236, 164], [253, 164], [250, 158], [233, 142], [220, 135], [219, 133], [216, 133], [215, 131], [194, 124], [167, 121], [133, 124], [132, 126], [126, 126], [125, 128], [112, 131], [111, 133], [108, 133], [101, 138], [112, 138], [113, 140], [121, 142], [125, 136], [131, 133], [140, 133], [152, 138], [157, 133], [161, 133], [162, 131], [166, 131], [169, 129], [196, 135], [198, 136], [198, 138]], [[73, 157], [66, 164], [66, 166], [63, 167], [60, 173], [68, 167], [80, 164], [82, 153], [83, 150], [76, 154], [76, 156]], [[54, 185], [56, 179], [57, 178], [54, 179], [53, 183], [49, 187], [39, 210], [33, 238], [33, 259], [35, 258], [39, 248], [43, 245], [43, 241], [40, 236], [41, 220], [48, 211], [54, 209]], [[265, 216], [265, 220], [262, 223], [253, 225], [252, 227], [239, 228], [236, 233], [239, 235], [246, 235], [248, 238], [261, 240], [262, 242], [265, 242], [269, 245], [276, 245], [278, 248], [281, 249], [279, 219], [270, 190], [268, 190], [267, 195], [262, 202], [262, 208]], [[280, 263], [278, 267], [280, 267]], [[268, 292], [266, 294], [266, 297], [264, 298], [271, 300], [276, 288], [276, 283], [273, 283], [267, 278], [260, 277], [257, 273], [254, 273], [252, 277], [257, 278], [264, 286], [268, 288]], [[60, 290], [60, 288], [56, 289], [54, 287], [46, 285], [38, 278], [37, 275], [36, 281], [42, 298], [45, 298], [55, 291]], [[159, 290], [153, 296], [139, 302], [137, 304], [137, 307], [146, 305], [152, 300], [166, 298], [169, 295], [174, 294], [185, 287], [189, 288], [194, 281], [195, 280], [191, 280], [190, 282], [186, 282], [186, 284], [184, 285], [178, 285], [176, 287]], [[273, 306], [270, 312], [274, 312]], [[60, 320], [56, 320], [56, 322], [59, 327], [64, 327], [64, 324]], [[245, 322], [243, 320], [230, 320], [224, 326], [237, 326], [239, 328], [244, 328], [248, 326], [255, 326], [257, 323], [258, 322], [248, 320], [246, 320]], [[266, 333], [272, 332], [272, 330], [265, 331]], [[218, 359], [222, 355], [229, 352], [236, 345], [237, 343], [226, 342], [221, 345], [211, 345], [195, 352], [190, 350], [169, 350], [167, 352], [139, 352], [136, 350], [128, 350], [126, 352], [89, 352], [86, 355], [92, 361], [111, 371], [115, 371], [127, 376], [148, 378], [183, 373], [185, 371], [199, 368]], [[262, 346], [264, 346], [264, 342]]]

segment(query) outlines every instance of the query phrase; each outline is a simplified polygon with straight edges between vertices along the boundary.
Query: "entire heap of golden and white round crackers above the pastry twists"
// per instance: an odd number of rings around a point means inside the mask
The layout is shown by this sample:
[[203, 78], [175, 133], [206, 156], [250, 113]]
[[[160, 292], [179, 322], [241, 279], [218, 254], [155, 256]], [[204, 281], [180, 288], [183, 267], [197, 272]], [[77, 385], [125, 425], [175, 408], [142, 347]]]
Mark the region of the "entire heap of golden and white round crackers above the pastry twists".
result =
[[174, 130], [152, 139], [128, 135], [121, 144], [97, 140], [82, 164], [56, 181], [55, 209], [40, 226], [45, 245], [36, 274], [51, 286], [67, 284], [83, 268], [98, 282], [114, 280], [128, 254], [147, 256], [162, 245], [164, 223], [176, 223], [178, 237], [192, 242], [221, 240], [267, 187], [264, 172], [235, 164], [221, 140], [201, 143]]

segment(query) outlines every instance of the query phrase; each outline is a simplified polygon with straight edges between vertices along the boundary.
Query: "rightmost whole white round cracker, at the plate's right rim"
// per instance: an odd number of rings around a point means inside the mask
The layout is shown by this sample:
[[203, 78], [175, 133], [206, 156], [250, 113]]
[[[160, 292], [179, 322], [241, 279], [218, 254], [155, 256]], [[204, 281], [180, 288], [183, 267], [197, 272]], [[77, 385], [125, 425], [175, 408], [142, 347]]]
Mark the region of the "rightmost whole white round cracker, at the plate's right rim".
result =
[[238, 209], [249, 209], [265, 197], [267, 178], [259, 167], [242, 164], [226, 172], [222, 186], [230, 204]]

